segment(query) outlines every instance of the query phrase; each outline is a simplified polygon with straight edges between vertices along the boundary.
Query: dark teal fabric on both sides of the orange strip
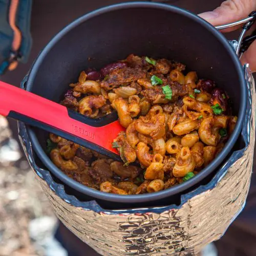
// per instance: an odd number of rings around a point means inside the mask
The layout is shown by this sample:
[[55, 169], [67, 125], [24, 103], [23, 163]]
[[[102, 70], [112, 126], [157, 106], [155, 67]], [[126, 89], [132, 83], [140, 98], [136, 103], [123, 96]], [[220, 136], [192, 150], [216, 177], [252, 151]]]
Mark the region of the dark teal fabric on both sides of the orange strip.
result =
[[[8, 23], [10, 0], [0, 0], [0, 74], [3, 72], [11, 51], [13, 31]], [[20, 47], [20, 58], [18, 61], [27, 62], [32, 38], [30, 33], [32, 0], [20, 0], [16, 15], [16, 26], [22, 32], [22, 45]], [[2, 66], [2, 69], [1, 69]]]

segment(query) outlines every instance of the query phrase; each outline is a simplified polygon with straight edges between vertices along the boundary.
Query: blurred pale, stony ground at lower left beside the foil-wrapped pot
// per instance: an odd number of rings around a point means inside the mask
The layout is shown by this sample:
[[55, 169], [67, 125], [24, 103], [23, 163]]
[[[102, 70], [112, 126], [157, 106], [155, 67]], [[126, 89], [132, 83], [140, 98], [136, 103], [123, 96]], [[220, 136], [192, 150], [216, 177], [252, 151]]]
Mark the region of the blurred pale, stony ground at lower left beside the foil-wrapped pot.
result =
[[20, 156], [0, 116], [0, 256], [67, 255], [53, 238], [57, 219], [52, 207]]

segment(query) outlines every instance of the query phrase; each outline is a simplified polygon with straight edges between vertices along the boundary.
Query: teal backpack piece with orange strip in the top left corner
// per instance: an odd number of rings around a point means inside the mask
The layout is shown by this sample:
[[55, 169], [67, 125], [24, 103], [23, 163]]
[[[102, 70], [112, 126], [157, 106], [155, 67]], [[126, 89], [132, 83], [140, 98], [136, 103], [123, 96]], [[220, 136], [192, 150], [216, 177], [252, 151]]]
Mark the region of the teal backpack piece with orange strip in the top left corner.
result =
[[31, 10], [32, 0], [0, 0], [0, 76], [28, 60]]

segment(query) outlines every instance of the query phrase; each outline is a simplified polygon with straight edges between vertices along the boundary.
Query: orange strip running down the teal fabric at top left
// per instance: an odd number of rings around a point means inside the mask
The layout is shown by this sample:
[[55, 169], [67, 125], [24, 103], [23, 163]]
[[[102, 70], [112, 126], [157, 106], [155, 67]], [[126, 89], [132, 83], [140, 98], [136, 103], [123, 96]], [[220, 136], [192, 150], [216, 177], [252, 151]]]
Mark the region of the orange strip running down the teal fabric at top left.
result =
[[[11, 0], [9, 9], [9, 24], [13, 30], [12, 50], [18, 51], [22, 44], [22, 33], [16, 26], [16, 14], [18, 9], [19, 0]], [[10, 63], [9, 70], [14, 70], [18, 65], [18, 61], [14, 60]]]

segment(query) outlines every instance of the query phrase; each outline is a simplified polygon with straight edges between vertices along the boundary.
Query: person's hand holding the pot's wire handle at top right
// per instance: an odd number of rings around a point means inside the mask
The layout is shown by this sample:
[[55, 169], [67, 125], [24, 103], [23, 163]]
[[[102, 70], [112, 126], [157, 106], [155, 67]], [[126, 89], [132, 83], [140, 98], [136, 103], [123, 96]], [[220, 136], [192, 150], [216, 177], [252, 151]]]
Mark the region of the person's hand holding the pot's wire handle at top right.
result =
[[[256, 0], [227, 0], [220, 7], [211, 12], [204, 12], [199, 16], [213, 26], [224, 25], [246, 18], [252, 11], [256, 10]], [[242, 25], [241, 25], [242, 26]], [[225, 29], [222, 32], [237, 30], [241, 26]], [[256, 24], [251, 30], [256, 29]], [[249, 49], [242, 55], [242, 64], [249, 63], [252, 72], [256, 72], [256, 40], [252, 42]]]

